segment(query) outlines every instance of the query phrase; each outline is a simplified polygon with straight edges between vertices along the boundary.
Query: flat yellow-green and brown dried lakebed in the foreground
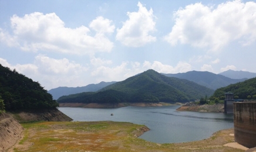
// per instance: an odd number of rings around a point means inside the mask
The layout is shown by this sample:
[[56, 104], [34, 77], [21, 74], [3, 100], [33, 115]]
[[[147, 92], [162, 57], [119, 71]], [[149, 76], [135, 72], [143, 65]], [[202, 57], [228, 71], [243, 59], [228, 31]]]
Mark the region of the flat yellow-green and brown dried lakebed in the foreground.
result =
[[158, 144], [137, 138], [149, 130], [126, 122], [23, 123], [24, 137], [14, 151], [243, 151], [225, 147], [234, 142], [234, 129], [221, 130], [209, 139]]

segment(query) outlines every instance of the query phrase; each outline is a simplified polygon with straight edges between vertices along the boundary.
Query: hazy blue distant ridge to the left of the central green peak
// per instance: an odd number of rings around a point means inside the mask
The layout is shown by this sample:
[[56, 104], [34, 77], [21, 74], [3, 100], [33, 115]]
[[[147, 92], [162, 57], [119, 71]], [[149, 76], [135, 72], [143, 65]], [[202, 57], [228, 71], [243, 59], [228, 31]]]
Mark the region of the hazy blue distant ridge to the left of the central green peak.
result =
[[94, 92], [98, 91], [99, 89], [102, 89], [106, 87], [107, 85], [114, 84], [116, 82], [100, 82], [99, 84], [89, 84], [85, 87], [58, 87], [54, 89], [50, 89], [48, 91], [49, 94], [52, 94], [53, 99], [58, 99], [60, 96], [63, 95], [70, 95], [70, 94], [79, 94], [81, 92]]

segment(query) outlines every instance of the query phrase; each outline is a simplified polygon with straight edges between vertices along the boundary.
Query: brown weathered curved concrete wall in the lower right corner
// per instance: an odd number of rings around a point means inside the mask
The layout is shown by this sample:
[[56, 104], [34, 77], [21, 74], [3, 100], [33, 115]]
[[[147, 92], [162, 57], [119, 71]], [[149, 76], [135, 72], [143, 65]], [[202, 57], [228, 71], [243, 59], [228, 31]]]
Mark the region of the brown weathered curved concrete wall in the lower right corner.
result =
[[256, 102], [234, 102], [235, 141], [256, 147]]

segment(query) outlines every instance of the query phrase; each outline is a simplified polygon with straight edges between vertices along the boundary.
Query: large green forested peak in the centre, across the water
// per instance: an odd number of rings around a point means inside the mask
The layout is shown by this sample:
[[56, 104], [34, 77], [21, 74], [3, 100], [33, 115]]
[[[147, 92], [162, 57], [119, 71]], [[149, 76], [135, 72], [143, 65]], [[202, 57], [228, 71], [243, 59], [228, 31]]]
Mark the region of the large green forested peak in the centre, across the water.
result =
[[147, 70], [124, 81], [108, 85], [97, 92], [61, 96], [59, 103], [120, 103], [120, 102], [188, 102], [210, 96], [214, 92], [195, 82], [166, 77]]

